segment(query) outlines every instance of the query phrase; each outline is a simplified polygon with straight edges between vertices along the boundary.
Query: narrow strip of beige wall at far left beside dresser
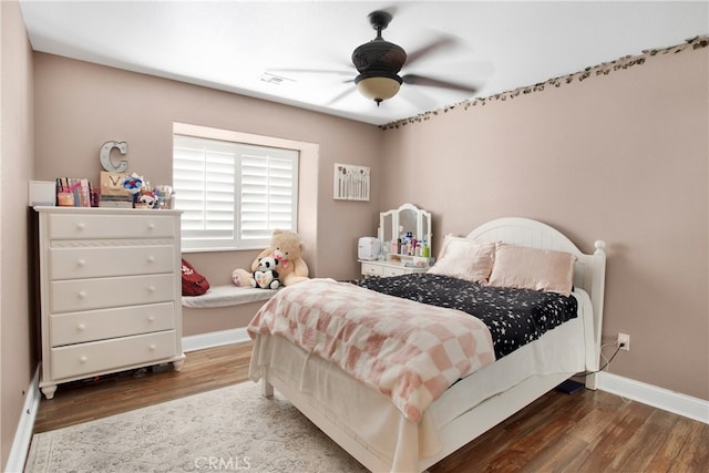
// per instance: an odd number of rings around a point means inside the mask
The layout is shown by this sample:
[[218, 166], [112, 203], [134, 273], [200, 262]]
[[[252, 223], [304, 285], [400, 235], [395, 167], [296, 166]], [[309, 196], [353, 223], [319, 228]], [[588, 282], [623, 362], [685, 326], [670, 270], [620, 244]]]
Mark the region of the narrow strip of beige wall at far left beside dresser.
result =
[[37, 368], [29, 296], [27, 183], [33, 171], [32, 51], [17, 2], [0, 2], [0, 465]]

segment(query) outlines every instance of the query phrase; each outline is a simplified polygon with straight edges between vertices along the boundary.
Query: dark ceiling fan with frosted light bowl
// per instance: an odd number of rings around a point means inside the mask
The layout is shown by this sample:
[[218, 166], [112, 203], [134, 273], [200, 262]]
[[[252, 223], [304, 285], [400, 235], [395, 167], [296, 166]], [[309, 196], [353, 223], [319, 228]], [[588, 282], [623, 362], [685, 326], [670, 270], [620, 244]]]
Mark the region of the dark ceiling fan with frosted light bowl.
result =
[[442, 47], [453, 42], [450, 37], [442, 37], [430, 44], [407, 54], [398, 44], [384, 40], [381, 32], [387, 29], [392, 20], [392, 14], [384, 10], [377, 10], [369, 14], [369, 22], [377, 30], [377, 37], [354, 49], [352, 63], [359, 75], [354, 78], [357, 90], [367, 99], [373, 100], [377, 106], [393, 97], [399, 92], [401, 84], [430, 85], [451, 89], [462, 92], [475, 93], [477, 88], [441, 81], [418, 74], [399, 75], [401, 69], [410, 66], [421, 58]]

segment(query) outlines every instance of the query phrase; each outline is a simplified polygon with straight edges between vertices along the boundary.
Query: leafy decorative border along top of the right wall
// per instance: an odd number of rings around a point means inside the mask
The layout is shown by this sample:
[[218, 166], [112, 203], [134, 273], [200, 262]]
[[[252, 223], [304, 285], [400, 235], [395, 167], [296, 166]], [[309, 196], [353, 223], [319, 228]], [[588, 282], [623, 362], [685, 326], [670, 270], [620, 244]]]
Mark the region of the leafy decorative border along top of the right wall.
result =
[[643, 65], [649, 58], [654, 58], [656, 55], [676, 54], [676, 53], [689, 50], [690, 48], [691, 48], [690, 50], [693, 51], [701, 48], [707, 48], [708, 45], [709, 45], [709, 35], [695, 37], [686, 40], [685, 43], [682, 44], [677, 44], [677, 45], [662, 48], [662, 49], [644, 50], [643, 53], [639, 55], [626, 55], [615, 61], [603, 62], [598, 65], [586, 68], [583, 71], [578, 71], [568, 75], [549, 79], [547, 81], [540, 82], [534, 85], [522, 86], [518, 89], [514, 89], [512, 91], [502, 92], [487, 97], [476, 97], [472, 100], [466, 100], [466, 101], [456, 103], [454, 105], [445, 106], [443, 109], [420, 113], [417, 116], [399, 120], [397, 122], [391, 122], [386, 125], [379, 125], [379, 128], [380, 130], [398, 130], [409, 124], [429, 121], [441, 113], [448, 113], [451, 110], [456, 107], [462, 107], [463, 110], [467, 110], [471, 106], [476, 106], [476, 105], [484, 106], [485, 104], [494, 101], [504, 102], [507, 99], [513, 100], [514, 97], [520, 95], [527, 95], [534, 92], [543, 92], [546, 88], [561, 88], [562, 85], [571, 84], [574, 81], [583, 82], [588, 78], [608, 75], [610, 72], [626, 70], [635, 65]]

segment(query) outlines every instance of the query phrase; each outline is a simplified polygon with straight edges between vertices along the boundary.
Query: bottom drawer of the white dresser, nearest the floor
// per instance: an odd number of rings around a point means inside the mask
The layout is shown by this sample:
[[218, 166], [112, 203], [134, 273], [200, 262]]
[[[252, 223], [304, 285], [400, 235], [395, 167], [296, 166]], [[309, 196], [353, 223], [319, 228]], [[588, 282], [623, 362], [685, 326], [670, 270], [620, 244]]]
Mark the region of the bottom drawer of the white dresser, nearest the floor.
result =
[[52, 348], [52, 379], [119, 371], [175, 356], [175, 330]]

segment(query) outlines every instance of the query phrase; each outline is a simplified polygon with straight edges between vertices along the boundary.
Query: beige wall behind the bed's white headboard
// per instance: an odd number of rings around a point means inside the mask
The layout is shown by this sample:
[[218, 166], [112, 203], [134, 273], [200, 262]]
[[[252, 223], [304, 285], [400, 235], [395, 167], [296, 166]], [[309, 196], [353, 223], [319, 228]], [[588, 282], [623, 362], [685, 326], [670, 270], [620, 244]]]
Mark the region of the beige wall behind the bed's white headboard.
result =
[[[709, 48], [387, 130], [382, 206], [433, 213], [434, 244], [501, 216], [608, 245], [610, 372], [709, 400]], [[604, 350], [610, 354], [613, 347]]]

